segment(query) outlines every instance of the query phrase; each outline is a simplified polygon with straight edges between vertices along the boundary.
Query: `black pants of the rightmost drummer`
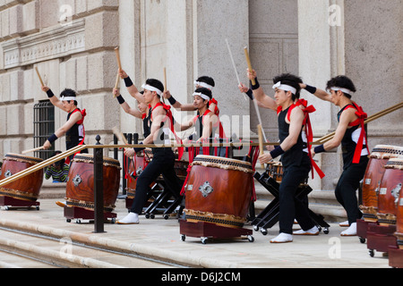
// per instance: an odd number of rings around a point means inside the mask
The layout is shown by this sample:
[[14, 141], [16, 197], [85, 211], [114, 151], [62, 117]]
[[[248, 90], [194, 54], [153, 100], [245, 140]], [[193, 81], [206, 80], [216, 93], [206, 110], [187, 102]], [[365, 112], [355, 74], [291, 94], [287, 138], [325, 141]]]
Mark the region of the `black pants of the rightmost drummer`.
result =
[[350, 164], [341, 174], [338, 185], [335, 189], [336, 198], [347, 212], [348, 223], [356, 223], [363, 214], [358, 208], [356, 190], [363, 180], [368, 164], [368, 157], [362, 156], [359, 164]]

